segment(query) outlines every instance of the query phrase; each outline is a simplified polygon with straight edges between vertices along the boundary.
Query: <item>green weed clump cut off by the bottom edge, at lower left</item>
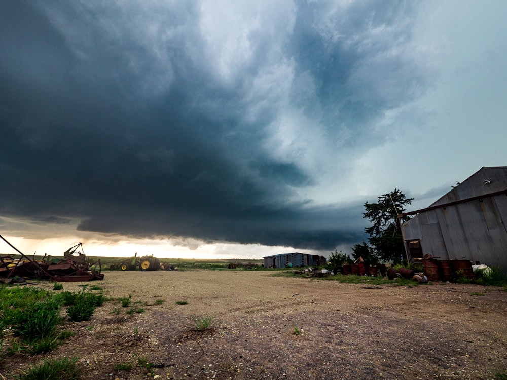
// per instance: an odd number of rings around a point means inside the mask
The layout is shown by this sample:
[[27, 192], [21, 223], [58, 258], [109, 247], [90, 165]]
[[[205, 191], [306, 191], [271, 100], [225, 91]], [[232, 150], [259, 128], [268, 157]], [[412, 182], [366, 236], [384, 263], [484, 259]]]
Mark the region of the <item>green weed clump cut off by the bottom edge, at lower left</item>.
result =
[[20, 380], [77, 380], [81, 367], [77, 358], [45, 360], [43, 364], [32, 367], [28, 372], [20, 374]]

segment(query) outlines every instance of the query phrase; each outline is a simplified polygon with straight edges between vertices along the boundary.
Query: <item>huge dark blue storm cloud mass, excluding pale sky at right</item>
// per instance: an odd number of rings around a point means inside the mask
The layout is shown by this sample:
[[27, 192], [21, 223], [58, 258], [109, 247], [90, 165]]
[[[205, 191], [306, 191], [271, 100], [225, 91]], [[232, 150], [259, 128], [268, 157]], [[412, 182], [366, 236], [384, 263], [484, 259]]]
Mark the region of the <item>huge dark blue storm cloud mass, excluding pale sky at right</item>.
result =
[[325, 186], [308, 169], [322, 152], [291, 148], [301, 131], [278, 126], [297, 110], [324, 151], [385, 139], [375, 121], [425, 86], [425, 68], [393, 51], [410, 39], [407, 3], [301, 2], [232, 53], [213, 51], [198, 3], [146, 4], [0, 4], [2, 213], [138, 237], [362, 240], [362, 202], [306, 199]]

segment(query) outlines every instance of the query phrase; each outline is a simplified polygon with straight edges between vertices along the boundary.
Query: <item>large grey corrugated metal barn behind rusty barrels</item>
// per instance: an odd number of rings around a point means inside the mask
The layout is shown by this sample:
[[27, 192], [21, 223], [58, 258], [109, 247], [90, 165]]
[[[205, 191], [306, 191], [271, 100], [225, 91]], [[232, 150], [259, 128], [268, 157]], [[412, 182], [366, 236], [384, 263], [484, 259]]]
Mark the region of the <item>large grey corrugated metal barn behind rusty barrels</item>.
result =
[[[409, 262], [431, 254], [507, 271], [507, 167], [483, 167], [402, 225]], [[400, 216], [400, 215], [399, 215]]]

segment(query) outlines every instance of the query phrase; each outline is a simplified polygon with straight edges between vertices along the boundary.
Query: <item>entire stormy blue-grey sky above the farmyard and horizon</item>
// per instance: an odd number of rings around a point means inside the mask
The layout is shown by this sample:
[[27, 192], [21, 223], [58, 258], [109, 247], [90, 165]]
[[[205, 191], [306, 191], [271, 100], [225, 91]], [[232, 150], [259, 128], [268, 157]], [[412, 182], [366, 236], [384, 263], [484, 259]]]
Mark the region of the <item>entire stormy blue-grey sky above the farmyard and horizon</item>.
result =
[[347, 250], [365, 201], [425, 207], [506, 164], [506, 19], [493, 0], [0, 2], [0, 234]]

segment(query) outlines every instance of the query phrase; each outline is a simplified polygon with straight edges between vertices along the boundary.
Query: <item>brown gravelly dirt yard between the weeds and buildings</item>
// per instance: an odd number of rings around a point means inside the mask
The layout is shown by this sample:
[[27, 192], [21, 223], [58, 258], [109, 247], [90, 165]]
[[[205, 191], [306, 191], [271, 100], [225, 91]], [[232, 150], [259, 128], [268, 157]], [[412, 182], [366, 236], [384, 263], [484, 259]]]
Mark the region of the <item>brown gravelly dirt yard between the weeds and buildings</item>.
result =
[[[4, 358], [0, 378], [64, 355], [79, 358], [84, 380], [493, 379], [507, 370], [503, 288], [370, 286], [240, 270], [105, 272], [87, 284], [115, 300], [66, 326], [76, 335], [49, 355]], [[118, 298], [129, 296], [143, 313], [122, 307]], [[212, 317], [211, 327], [196, 331], [193, 315]], [[139, 358], [154, 364], [151, 373]]]

